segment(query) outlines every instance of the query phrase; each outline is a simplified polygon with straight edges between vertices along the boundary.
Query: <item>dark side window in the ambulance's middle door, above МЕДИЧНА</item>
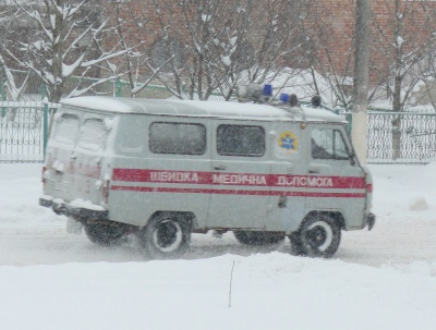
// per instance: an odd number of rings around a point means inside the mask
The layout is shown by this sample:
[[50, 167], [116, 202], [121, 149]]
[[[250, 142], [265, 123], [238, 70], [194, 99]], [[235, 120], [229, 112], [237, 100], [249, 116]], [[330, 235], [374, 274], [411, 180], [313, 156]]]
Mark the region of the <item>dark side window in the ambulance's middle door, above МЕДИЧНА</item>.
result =
[[265, 131], [262, 126], [219, 125], [217, 151], [221, 156], [262, 157], [265, 154]]

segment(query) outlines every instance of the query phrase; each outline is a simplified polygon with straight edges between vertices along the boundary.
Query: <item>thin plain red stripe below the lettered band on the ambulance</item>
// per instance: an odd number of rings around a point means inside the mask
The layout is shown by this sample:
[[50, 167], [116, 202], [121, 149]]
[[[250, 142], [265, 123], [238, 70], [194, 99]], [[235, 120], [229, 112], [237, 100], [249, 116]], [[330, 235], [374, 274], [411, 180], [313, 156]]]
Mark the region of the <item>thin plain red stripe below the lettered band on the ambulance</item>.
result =
[[143, 193], [181, 193], [181, 194], [218, 194], [218, 195], [256, 195], [256, 196], [296, 196], [296, 197], [337, 197], [365, 198], [361, 193], [317, 193], [317, 192], [280, 192], [280, 191], [239, 191], [239, 190], [203, 190], [203, 188], [173, 188], [112, 185], [112, 191], [143, 192]]

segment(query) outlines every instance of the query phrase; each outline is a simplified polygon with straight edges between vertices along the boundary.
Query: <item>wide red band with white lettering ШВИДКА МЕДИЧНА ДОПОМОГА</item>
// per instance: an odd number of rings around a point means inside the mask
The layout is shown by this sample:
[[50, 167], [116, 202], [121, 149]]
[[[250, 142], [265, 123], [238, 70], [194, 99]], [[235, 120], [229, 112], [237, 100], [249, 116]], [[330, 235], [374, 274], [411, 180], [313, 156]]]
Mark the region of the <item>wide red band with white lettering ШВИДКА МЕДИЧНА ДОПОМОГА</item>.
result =
[[113, 169], [113, 181], [269, 187], [362, 188], [364, 178]]

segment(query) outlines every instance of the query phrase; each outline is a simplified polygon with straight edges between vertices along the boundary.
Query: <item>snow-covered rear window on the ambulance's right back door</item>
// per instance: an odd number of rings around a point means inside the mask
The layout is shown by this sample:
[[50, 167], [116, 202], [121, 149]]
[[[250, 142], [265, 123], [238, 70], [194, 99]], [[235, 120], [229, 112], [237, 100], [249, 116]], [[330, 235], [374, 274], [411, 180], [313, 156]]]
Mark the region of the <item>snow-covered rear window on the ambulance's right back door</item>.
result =
[[102, 120], [87, 119], [81, 127], [78, 146], [89, 150], [105, 148], [107, 131]]

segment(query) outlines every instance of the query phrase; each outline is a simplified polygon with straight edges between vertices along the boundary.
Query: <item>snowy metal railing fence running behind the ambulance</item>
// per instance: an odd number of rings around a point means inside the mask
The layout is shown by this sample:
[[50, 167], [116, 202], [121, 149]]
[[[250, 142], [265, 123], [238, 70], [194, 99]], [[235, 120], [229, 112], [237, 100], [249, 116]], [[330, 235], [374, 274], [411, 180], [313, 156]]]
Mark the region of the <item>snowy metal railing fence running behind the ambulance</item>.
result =
[[[152, 87], [148, 97], [162, 96], [161, 88]], [[43, 161], [49, 115], [56, 108], [43, 101], [0, 102], [0, 162]], [[340, 115], [351, 122], [351, 113]], [[368, 163], [435, 161], [436, 113], [370, 111], [366, 139]]]

